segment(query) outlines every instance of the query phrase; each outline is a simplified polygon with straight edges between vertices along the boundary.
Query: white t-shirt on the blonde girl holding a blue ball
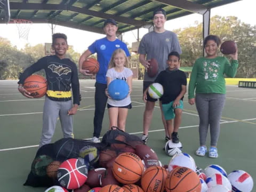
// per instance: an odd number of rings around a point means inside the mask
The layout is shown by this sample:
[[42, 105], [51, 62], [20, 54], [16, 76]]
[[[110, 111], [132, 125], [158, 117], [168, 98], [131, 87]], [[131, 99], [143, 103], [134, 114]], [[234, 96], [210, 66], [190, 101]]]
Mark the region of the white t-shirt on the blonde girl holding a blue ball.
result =
[[[122, 79], [124, 81], [127, 82], [127, 78], [132, 76], [132, 70], [129, 68], [124, 67], [124, 70], [122, 72], [117, 72], [115, 70], [115, 68], [110, 68], [107, 70], [107, 77], [111, 78], [111, 81], [114, 81], [115, 79]], [[126, 98], [124, 98], [123, 100], [114, 100], [114, 99], [110, 99], [108, 98], [108, 104], [111, 106], [115, 106], [115, 107], [123, 107], [123, 106], [127, 106], [131, 103], [131, 97], [130, 95]]]

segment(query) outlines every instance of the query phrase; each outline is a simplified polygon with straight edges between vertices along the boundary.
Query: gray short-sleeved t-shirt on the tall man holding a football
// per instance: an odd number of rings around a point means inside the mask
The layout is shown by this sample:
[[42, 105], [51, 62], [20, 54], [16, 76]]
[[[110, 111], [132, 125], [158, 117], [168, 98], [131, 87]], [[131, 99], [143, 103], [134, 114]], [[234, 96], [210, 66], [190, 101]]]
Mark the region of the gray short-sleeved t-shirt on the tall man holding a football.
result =
[[[158, 74], [168, 67], [166, 63], [167, 57], [172, 51], [177, 51], [181, 54], [178, 37], [169, 30], [165, 30], [163, 33], [156, 33], [155, 31], [147, 33], [142, 37], [138, 49], [139, 54], [146, 54], [146, 60], [152, 58], [157, 60], [159, 67]], [[149, 77], [145, 71], [144, 80], [154, 81], [157, 75], [155, 77]]]

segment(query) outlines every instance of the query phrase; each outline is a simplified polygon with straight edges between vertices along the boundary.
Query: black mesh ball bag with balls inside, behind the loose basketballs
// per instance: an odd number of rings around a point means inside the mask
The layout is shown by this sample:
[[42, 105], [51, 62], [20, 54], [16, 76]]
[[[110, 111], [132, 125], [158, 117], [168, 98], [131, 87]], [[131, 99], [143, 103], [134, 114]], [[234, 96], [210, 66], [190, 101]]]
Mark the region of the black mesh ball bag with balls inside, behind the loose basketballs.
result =
[[[88, 140], [63, 138], [38, 149], [31, 165], [25, 186], [51, 187], [58, 185], [56, 178], [49, 177], [46, 169], [53, 161], [63, 162], [69, 158], [83, 158], [89, 170], [111, 167], [111, 159], [124, 152], [133, 152], [135, 146], [143, 145], [136, 135], [115, 129], [103, 135], [100, 143]], [[113, 163], [113, 162], [112, 162]]]

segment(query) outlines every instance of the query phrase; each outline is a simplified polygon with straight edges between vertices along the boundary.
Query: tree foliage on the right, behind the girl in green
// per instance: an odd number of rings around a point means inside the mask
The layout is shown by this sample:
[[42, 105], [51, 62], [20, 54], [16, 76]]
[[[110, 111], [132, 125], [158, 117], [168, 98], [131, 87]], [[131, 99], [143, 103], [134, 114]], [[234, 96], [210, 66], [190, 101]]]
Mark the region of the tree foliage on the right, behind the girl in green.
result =
[[[202, 23], [176, 30], [175, 33], [182, 47], [182, 66], [192, 66], [203, 55]], [[239, 67], [236, 77], [256, 77], [256, 26], [241, 22], [236, 17], [217, 15], [211, 18], [210, 34], [218, 35], [222, 41], [233, 40], [237, 43]]]

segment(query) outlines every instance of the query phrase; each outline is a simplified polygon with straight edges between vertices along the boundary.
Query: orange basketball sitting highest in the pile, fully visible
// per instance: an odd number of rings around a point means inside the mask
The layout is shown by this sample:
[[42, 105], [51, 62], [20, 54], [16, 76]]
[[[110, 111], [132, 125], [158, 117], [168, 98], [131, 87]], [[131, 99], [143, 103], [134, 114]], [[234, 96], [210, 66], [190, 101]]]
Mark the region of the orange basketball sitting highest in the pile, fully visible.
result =
[[141, 158], [134, 153], [122, 153], [113, 163], [112, 172], [117, 181], [123, 184], [137, 182], [144, 171]]

